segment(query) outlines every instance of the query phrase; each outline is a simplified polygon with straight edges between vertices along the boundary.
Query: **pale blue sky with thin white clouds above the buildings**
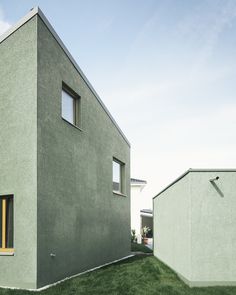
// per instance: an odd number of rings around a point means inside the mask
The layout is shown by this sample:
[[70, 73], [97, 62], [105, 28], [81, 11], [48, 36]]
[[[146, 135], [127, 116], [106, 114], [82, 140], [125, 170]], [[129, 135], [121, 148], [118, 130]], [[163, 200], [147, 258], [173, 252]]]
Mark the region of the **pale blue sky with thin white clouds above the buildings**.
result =
[[39, 6], [131, 142], [147, 203], [188, 168], [236, 168], [235, 0], [0, 0]]

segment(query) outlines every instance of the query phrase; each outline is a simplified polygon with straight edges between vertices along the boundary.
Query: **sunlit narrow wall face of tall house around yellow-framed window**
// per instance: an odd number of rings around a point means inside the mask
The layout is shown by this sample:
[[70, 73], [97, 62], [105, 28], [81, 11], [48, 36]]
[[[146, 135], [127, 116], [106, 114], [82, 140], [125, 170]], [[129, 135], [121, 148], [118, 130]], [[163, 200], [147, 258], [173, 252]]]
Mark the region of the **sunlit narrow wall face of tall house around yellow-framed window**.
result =
[[0, 286], [36, 287], [36, 18], [0, 44], [0, 195], [14, 194], [14, 256]]

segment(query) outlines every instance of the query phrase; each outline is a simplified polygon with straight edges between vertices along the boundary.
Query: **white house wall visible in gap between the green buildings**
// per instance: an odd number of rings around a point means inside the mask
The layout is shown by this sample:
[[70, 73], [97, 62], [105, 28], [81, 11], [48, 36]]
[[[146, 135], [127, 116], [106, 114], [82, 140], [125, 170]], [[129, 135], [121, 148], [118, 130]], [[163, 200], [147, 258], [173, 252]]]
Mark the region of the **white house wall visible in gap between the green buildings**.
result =
[[135, 229], [138, 243], [141, 243], [141, 216], [142, 200], [144, 198], [143, 189], [147, 182], [145, 180], [131, 178], [131, 229]]

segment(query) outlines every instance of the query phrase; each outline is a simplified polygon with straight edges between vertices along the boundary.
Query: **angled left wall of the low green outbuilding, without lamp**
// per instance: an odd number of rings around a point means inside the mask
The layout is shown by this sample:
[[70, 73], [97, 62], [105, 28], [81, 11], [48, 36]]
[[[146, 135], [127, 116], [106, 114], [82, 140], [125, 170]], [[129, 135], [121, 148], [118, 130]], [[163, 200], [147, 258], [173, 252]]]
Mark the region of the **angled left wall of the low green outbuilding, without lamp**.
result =
[[189, 174], [154, 199], [154, 255], [191, 278]]

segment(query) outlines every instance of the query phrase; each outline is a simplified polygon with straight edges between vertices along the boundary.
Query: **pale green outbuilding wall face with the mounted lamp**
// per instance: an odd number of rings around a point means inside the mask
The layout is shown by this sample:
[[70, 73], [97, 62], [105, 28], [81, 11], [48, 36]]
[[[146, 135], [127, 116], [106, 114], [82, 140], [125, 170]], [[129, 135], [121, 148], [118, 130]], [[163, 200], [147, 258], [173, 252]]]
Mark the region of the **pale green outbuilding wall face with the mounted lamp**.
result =
[[236, 285], [236, 172], [190, 177], [192, 285]]

